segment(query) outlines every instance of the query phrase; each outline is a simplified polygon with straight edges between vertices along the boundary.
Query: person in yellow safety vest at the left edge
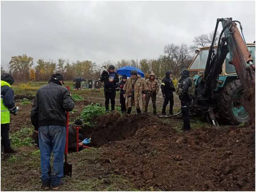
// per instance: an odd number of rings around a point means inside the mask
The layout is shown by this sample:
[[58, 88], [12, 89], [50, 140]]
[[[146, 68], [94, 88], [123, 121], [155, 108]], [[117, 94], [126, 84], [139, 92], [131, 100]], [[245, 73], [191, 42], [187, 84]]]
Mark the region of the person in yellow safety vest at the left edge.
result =
[[17, 112], [14, 91], [11, 88], [14, 82], [14, 78], [10, 74], [1, 75], [1, 137], [4, 153], [15, 153], [9, 140], [10, 114], [16, 115]]

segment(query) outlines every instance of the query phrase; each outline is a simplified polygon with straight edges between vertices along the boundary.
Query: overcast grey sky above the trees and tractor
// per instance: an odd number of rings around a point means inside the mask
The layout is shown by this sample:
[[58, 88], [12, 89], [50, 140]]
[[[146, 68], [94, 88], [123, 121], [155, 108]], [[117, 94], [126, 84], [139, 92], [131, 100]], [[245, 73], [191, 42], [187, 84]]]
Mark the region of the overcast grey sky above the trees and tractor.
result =
[[21, 54], [35, 64], [158, 58], [165, 44], [192, 44], [221, 17], [239, 20], [255, 41], [254, 1], [1, 1], [1, 66]]

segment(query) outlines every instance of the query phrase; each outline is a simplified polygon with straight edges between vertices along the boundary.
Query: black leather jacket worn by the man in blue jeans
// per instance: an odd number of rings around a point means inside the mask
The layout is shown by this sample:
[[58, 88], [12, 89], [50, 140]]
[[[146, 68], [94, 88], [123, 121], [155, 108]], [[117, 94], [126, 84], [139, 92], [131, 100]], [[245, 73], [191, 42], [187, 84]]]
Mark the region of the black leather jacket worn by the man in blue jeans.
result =
[[59, 81], [49, 81], [36, 93], [31, 110], [31, 123], [36, 130], [40, 126], [65, 126], [65, 111], [72, 111], [74, 106], [69, 90]]

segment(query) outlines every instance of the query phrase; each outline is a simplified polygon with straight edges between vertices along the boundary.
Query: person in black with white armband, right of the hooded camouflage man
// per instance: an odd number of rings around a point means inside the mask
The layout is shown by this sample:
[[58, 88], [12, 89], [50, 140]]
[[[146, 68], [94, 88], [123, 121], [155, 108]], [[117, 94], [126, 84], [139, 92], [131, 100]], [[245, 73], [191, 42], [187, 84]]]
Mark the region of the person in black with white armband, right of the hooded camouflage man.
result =
[[169, 114], [173, 114], [174, 97], [173, 92], [175, 91], [174, 85], [171, 80], [172, 71], [166, 71], [164, 79], [161, 82], [162, 97], [164, 98], [164, 104], [162, 107], [162, 115], [166, 115], [165, 109], [170, 102]]

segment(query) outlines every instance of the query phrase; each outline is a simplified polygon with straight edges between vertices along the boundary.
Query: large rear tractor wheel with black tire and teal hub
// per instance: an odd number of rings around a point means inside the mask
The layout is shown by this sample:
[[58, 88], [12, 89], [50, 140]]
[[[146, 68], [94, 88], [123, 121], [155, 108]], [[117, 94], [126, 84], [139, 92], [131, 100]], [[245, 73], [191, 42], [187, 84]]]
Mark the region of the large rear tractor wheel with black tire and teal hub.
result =
[[241, 105], [243, 91], [240, 80], [234, 80], [220, 92], [218, 108], [221, 119], [231, 124], [246, 123], [250, 120], [248, 112]]

